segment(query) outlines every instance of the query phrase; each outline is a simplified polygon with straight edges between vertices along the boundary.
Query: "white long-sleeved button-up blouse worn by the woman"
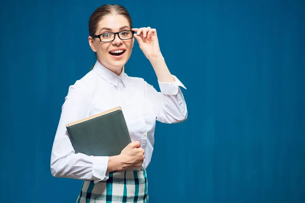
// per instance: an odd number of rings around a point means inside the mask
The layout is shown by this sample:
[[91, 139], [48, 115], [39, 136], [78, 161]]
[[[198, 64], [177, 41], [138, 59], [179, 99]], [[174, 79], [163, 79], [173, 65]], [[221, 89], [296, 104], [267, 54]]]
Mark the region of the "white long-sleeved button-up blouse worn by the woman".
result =
[[185, 86], [173, 77], [172, 83], [158, 81], [158, 92], [142, 78], [129, 77], [124, 69], [117, 76], [97, 61], [92, 71], [69, 87], [52, 148], [52, 175], [95, 183], [108, 179], [109, 157], [75, 153], [66, 124], [117, 106], [122, 108], [132, 141], [139, 141], [145, 150], [142, 167], [133, 170], [145, 170], [154, 150], [156, 120], [177, 123], [187, 119], [186, 101], [179, 88]]

